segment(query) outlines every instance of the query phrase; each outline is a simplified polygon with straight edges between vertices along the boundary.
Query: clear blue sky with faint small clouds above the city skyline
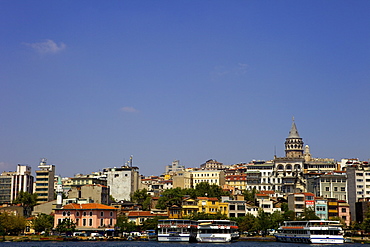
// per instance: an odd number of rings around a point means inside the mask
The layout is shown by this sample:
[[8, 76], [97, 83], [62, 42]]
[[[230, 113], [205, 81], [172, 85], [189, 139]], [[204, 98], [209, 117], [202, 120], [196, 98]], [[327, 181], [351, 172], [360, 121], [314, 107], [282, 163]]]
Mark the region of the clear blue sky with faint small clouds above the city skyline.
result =
[[369, 1], [0, 1], [0, 168], [368, 160]]

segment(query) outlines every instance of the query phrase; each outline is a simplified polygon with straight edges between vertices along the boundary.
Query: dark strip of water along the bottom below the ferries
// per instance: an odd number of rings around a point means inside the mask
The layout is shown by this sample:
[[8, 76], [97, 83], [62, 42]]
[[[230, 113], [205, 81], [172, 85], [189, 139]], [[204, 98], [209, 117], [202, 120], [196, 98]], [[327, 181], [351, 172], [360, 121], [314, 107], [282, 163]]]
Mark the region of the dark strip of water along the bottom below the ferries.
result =
[[1, 247], [6, 246], [15, 246], [15, 247], [144, 247], [144, 246], [151, 246], [151, 247], [209, 247], [209, 246], [230, 246], [230, 247], [338, 247], [338, 246], [350, 246], [350, 247], [360, 247], [365, 246], [363, 244], [336, 244], [336, 245], [317, 245], [317, 244], [299, 244], [299, 243], [281, 243], [281, 242], [249, 242], [249, 241], [239, 241], [233, 243], [219, 243], [219, 244], [210, 244], [210, 243], [158, 243], [154, 241], [150, 242], [135, 242], [135, 241], [113, 241], [113, 242], [8, 242], [8, 243], [1, 243]]

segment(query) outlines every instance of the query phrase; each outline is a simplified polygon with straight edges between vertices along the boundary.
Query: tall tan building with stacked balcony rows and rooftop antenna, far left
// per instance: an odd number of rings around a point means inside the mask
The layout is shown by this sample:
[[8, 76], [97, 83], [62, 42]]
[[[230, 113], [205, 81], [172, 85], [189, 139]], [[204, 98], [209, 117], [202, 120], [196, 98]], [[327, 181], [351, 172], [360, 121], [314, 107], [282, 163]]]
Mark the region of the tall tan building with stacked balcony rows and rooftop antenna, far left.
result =
[[47, 159], [42, 158], [36, 171], [35, 193], [37, 203], [54, 200], [54, 176], [55, 166], [46, 164]]

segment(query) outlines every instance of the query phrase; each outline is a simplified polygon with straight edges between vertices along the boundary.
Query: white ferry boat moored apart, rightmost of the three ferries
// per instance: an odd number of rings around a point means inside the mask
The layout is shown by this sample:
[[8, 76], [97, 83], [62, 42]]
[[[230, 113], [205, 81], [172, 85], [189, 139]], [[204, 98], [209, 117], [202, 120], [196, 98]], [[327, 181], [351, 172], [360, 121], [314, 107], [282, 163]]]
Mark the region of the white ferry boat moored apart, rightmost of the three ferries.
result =
[[342, 244], [343, 230], [339, 221], [309, 220], [284, 221], [275, 233], [276, 241], [310, 243], [310, 244]]

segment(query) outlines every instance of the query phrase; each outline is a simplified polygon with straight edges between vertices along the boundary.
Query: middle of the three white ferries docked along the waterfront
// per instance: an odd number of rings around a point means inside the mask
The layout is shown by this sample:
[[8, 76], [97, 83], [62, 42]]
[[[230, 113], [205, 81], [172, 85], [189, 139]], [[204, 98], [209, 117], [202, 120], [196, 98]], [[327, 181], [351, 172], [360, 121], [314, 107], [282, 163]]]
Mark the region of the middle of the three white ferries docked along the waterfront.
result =
[[226, 243], [239, 238], [235, 221], [198, 220], [197, 228], [197, 242]]

